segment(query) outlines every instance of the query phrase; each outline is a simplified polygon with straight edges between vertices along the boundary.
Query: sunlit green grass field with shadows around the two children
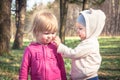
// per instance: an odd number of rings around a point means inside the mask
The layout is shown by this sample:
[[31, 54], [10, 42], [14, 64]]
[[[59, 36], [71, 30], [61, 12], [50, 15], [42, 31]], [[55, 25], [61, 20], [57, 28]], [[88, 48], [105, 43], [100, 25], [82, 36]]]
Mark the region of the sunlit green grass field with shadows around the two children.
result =
[[[79, 42], [78, 38], [65, 40], [65, 44], [72, 48]], [[98, 72], [100, 80], [120, 80], [120, 37], [101, 37], [99, 42], [102, 56], [102, 64]], [[24, 47], [28, 44], [29, 42], [24, 42]], [[23, 49], [11, 50], [9, 55], [0, 56], [0, 80], [18, 80]], [[68, 74], [69, 59], [65, 59], [65, 67]]]

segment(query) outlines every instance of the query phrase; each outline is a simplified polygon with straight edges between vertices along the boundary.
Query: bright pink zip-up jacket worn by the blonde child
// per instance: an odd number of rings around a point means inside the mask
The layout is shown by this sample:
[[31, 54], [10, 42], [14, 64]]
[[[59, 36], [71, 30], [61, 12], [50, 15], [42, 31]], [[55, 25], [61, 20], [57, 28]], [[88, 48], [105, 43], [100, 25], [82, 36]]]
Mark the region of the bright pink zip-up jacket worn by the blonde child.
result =
[[67, 80], [64, 61], [54, 43], [31, 43], [26, 47], [20, 68], [19, 80]]

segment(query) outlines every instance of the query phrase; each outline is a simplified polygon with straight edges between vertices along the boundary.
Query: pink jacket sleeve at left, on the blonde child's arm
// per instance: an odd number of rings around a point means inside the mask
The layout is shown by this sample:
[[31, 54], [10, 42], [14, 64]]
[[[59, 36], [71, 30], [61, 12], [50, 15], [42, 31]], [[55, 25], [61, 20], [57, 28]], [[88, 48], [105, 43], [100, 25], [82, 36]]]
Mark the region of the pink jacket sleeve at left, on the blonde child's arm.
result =
[[30, 50], [28, 47], [25, 49], [22, 63], [19, 72], [19, 80], [28, 80], [28, 72], [30, 67]]

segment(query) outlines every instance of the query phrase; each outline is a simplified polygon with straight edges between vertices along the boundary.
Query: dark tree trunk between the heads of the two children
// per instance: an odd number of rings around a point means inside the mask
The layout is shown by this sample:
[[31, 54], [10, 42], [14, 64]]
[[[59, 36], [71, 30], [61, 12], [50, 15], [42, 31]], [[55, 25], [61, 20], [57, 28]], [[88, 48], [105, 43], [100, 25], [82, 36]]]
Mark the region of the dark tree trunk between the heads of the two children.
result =
[[65, 42], [65, 26], [68, 10], [68, 0], [60, 0], [60, 31], [59, 36], [61, 41]]

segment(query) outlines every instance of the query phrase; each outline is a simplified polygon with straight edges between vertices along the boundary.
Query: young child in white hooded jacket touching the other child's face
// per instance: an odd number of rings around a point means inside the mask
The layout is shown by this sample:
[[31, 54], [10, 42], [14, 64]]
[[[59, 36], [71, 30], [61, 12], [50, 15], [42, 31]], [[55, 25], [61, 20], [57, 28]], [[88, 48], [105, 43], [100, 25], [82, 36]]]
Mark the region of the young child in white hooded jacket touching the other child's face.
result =
[[81, 42], [74, 49], [62, 44], [60, 38], [56, 37], [57, 52], [72, 60], [72, 80], [99, 80], [97, 72], [102, 58], [97, 38], [103, 30], [105, 19], [102, 10], [82, 11], [76, 21], [76, 30]]

